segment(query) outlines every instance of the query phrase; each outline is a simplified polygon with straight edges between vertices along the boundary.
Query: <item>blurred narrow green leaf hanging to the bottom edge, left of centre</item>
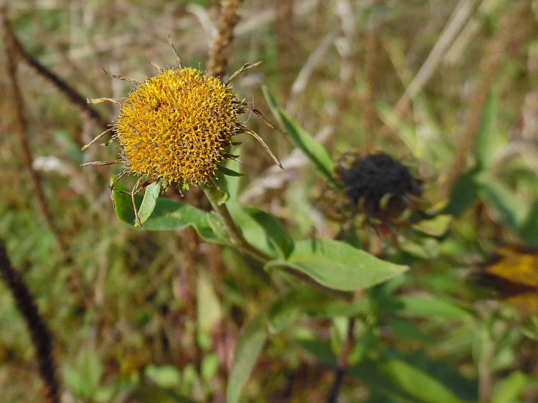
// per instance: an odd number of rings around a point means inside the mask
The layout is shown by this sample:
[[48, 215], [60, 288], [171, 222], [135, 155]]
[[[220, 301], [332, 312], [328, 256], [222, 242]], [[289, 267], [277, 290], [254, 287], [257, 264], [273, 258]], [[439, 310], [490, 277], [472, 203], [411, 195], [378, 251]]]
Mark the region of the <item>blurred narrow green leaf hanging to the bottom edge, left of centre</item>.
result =
[[237, 343], [226, 387], [226, 401], [228, 403], [237, 403], [241, 397], [243, 386], [249, 379], [252, 368], [254, 368], [267, 339], [264, 327], [265, 315], [260, 314], [247, 323], [243, 329], [243, 334]]

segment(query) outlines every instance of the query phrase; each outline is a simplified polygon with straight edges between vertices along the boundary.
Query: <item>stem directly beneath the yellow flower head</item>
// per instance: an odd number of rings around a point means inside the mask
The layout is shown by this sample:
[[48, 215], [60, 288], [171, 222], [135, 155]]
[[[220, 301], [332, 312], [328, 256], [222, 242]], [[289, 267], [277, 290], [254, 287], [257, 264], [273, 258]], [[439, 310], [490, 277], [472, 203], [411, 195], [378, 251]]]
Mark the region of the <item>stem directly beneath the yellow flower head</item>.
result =
[[226, 207], [224, 203], [219, 203], [220, 195], [217, 186], [213, 183], [203, 184], [200, 186], [203, 192], [206, 193], [206, 196], [209, 199], [209, 203], [211, 203], [213, 210], [222, 220], [226, 231], [228, 231], [228, 234], [230, 235], [230, 241], [233, 243], [233, 245], [237, 249], [242, 251], [244, 254], [253, 257], [260, 263], [267, 263], [268, 261], [270, 261], [270, 256], [254, 248], [249, 243], [249, 241], [245, 239], [239, 228], [236, 226], [235, 222], [233, 222], [228, 207]]

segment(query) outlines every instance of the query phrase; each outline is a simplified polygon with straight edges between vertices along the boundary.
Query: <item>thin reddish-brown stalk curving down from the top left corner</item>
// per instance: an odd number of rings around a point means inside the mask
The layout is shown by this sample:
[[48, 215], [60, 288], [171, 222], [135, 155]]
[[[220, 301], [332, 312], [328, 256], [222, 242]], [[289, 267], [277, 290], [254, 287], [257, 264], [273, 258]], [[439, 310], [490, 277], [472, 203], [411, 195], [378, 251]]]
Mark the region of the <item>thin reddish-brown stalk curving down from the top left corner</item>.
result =
[[24, 103], [23, 97], [20, 93], [20, 88], [17, 81], [17, 66], [16, 66], [16, 44], [13, 40], [13, 36], [10, 34], [9, 23], [5, 15], [5, 9], [0, 9], [0, 18], [2, 19], [2, 33], [4, 38], [4, 46], [6, 50], [6, 63], [8, 77], [11, 81], [11, 102], [12, 116], [13, 116], [13, 132], [17, 135], [20, 142], [20, 149], [22, 150], [23, 162], [30, 174], [30, 181], [32, 183], [33, 193], [36, 196], [36, 201], [41, 210], [41, 214], [45, 218], [48, 228], [54, 234], [56, 240], [60, 244], [63, 253], [66, 256], [66, 261], [71, 262], [72, 257], [70, 255], [69, 246], [56, 226], [56, 222], [52, 216], [52, 213], [48, 207], [47, 199], [43, 187], [41, 186], [41, 179], [38, 172], [33, 168], [33, 156], [30, 150], [30, 145], [26, 136], [27, 124], [24, 118]]

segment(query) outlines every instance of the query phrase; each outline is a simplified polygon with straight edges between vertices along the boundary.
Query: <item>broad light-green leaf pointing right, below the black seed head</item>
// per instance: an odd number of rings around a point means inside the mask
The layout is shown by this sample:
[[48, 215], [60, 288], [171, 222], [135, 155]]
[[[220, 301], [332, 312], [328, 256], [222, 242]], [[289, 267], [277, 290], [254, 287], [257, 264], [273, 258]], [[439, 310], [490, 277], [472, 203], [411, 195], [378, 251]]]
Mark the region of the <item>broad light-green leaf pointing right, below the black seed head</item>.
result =
[[295, 248], [286, 260], [275, 260], [265, 265], [266, 269], [282, 267], [301, 272], [325, 287], [341, 291], [371, 287], [408, 269], [330, 239], [295, 242]]

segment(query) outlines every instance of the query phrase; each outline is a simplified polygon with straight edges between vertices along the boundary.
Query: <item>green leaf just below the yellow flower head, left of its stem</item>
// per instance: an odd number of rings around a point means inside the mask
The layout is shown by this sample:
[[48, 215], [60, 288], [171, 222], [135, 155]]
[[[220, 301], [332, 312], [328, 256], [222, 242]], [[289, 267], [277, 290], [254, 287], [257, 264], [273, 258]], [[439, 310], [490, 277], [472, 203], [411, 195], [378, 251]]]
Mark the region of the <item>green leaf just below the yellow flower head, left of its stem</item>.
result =
[[[125, 186], [118, 183], [116, 189], [125, 190]], [[134, 224], [134, 210], [131, 196], [125, 193], [113, 192], [116, 204], [116, 215], [126, 224]], [[135, 201], [139, 205], [141, 197], [136, 197]], [[211, 220], [218, 221], [217, 217]], [[213, 222], [213, 227], [217, 224]], [[209, 213], [191, 205], [176, 202], [175, 200], [160, 197], [155, 203], [153, 213], [140, 228], [145, 231], [178, 231], [187, 227], [193, 227], [196, 232], [206, 241], [228, 245], [229, 242], [217, 235], [213, 227], [209, 224]]]

